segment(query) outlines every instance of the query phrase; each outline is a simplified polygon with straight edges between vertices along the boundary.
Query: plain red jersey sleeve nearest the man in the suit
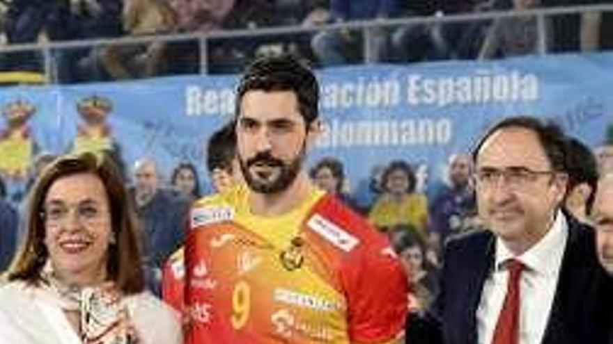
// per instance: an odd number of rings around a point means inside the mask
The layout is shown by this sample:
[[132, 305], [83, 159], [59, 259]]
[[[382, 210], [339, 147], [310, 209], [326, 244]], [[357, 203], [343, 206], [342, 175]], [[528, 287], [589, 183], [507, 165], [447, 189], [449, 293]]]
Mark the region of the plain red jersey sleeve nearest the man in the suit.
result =
[[350, 255], [341, 279], [348, 300], [351, 341], [378, 343], [396, 337], [405, 326], [408, 278], [398, 257], [380, 240]]

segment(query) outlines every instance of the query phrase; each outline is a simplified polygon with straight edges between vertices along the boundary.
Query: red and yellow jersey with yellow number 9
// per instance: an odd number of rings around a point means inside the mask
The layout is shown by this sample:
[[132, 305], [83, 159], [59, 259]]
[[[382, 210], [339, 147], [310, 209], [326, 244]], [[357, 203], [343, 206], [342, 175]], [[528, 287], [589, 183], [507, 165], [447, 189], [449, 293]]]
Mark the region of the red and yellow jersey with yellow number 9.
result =
[[186, 343], [378, 343], [404, 328], [408, 281], [387, 239], [318, 190], [284, 215], [248, 190], [196, 202]]

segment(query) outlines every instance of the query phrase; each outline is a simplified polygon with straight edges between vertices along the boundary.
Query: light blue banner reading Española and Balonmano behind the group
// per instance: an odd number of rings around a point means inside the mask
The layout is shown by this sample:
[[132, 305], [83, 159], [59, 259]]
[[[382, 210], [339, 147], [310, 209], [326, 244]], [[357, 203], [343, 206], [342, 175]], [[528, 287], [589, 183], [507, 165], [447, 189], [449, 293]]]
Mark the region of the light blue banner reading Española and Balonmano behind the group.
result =
[[[412, 163], [420, 187], [438, 181], [449, 154], [468, 151], [508, 115], [554, 117], [588, 145], [613, 122], [613, 54], [324, 69], [325, 131], [307, 165], [336, 156], [355, 190], [373, 168]], [[237, 76], [17, 87], [0, 90], [0, 172], [22, 188], [37, 152], [113, 146], [127, 170], [153, 156], [166, 177], [180, 161], [200, 167], [205, 142], [234, 111]], [[9, 124], [10, 123], [10, 124]]]

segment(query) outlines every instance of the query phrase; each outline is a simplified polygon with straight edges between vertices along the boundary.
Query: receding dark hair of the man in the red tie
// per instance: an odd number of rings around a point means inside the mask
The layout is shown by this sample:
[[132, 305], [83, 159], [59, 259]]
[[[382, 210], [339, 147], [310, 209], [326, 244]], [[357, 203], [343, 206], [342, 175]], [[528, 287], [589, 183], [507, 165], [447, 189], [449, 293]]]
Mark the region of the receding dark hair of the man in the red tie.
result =
[[479, 139], [472, 150], [472, 161], [476, 165], [476, 159], [483, 143], [494, 133], [502, 129], [520, 128], [532, 131], [536, 134], [538, 142], [541, 143], [545, 156], [551, 165], [552, 170], [557, 172], [568, 172], [566, 162], [566, 136], [559, 126], [540, 117], [533, 116], [513, 116], [505, 117], [492, 125], [486, 133]]

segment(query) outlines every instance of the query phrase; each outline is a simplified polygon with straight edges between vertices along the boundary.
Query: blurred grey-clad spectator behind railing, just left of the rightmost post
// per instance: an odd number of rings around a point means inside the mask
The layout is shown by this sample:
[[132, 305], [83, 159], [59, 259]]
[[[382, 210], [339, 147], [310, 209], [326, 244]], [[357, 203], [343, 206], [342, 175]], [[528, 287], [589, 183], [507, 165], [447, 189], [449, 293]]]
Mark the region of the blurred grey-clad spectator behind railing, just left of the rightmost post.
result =
[[[512, 10], [538, 8], [541, 0], [512, 0]], [[497, 19], [490, 26], [479, 58], [534, 54], [538, 49], [538, 23], [534, 16]]]

